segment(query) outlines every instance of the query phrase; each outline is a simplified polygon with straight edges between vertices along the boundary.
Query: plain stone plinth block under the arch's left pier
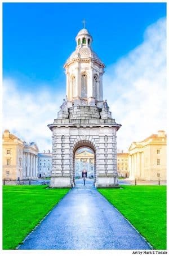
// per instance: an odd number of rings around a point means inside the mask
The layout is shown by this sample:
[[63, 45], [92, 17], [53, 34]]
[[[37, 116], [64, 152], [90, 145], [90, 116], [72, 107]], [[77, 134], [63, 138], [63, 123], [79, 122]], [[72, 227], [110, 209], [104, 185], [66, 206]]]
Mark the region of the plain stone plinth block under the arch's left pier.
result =
[[51, 187], [72, 187], [69, 176], [51, 177]]

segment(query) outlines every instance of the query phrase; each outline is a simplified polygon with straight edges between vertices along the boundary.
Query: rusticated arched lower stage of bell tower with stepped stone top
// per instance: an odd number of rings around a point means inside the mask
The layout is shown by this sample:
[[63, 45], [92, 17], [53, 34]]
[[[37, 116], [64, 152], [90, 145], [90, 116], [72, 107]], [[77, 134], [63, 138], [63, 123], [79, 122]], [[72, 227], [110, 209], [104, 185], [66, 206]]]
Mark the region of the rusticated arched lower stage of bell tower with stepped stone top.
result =
[[68, 108], [69, 118], [48, 125], [53, 133], [52, 187], [75, 185], [75, 152], [89, 147], [94, 151], [96, 187], [118, 187], [116, 132], [121, 125], [102, 119], [96, 106]]

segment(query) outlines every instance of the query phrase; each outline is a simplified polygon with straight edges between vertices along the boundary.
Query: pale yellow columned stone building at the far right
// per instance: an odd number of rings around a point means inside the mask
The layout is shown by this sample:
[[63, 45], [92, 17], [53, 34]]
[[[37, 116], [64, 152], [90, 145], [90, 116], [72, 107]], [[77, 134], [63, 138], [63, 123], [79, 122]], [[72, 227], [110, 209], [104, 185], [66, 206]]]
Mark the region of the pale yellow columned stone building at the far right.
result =
[[130, 179], [166, 181], [167, 135], [164, 131], [152, 134], [141, 142], [133, 142], [129, 148]]

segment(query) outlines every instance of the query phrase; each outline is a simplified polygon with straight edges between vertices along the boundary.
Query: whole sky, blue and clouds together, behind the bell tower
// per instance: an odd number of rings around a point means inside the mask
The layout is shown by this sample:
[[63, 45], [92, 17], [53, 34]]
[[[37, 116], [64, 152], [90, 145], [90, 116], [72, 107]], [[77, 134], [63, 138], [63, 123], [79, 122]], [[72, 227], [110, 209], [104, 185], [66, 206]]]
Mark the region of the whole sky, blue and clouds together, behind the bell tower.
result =
[[3, 3], [3, 129], [51, 150], [47, 125], [83, 18], [106, 65], [104, 99], [122, 124], [117, 148], [127, 151], [167, 127], [165, 3]]

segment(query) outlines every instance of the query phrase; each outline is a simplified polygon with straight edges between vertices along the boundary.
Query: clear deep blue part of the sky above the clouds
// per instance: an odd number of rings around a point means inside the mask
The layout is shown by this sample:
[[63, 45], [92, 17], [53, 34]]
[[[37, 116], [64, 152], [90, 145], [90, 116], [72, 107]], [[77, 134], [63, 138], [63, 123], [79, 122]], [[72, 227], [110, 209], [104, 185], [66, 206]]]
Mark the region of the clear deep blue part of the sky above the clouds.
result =
[[[63, 65], [83, 27], [106, 66], [143, 42], [165, 3], [3, 3], [3, 75], [34, 83], [65, 82]], [[23, 88], [22, 89], [30, 89]]]

